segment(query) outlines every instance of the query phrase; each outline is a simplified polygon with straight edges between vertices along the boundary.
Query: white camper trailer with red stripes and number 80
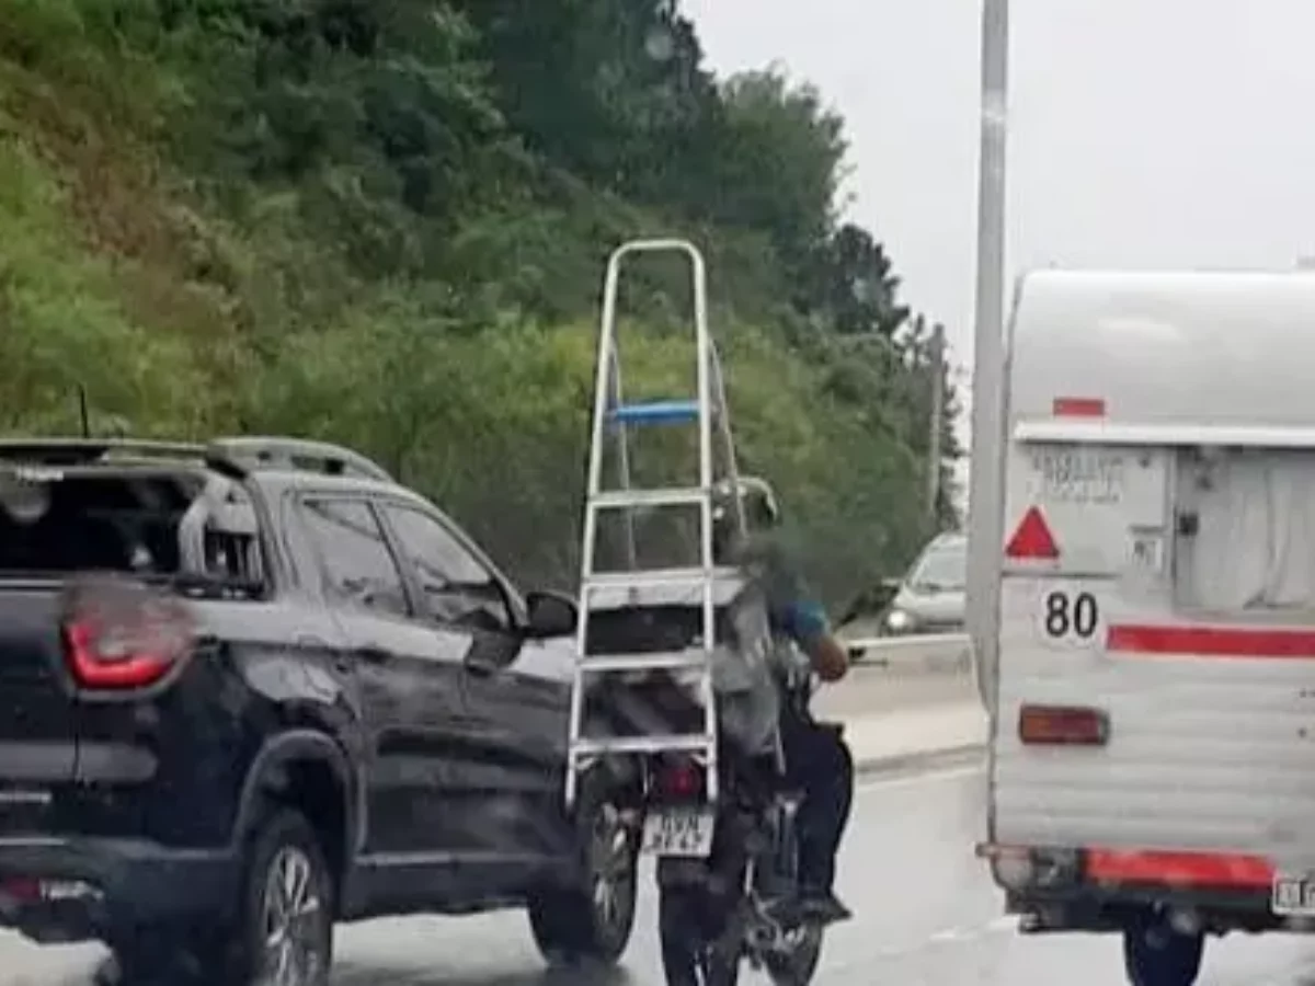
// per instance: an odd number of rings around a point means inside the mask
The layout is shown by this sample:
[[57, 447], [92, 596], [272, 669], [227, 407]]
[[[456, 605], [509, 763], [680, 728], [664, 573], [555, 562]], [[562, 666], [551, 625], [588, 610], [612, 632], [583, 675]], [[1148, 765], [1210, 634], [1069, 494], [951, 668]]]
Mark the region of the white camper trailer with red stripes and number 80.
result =
[[1315, 277], [1030, 273], [1003, 379], [980, 852], [1189, 986], [1315, 927]]

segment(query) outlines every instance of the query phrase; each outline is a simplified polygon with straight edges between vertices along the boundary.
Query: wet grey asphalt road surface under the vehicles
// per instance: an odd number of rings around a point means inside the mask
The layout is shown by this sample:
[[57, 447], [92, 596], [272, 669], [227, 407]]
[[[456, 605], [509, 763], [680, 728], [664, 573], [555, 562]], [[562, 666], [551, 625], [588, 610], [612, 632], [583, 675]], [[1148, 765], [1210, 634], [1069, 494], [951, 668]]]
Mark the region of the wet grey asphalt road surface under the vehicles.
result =
[[[856, 918], [832, 929], [819, 986], [1107, 986], [1124, 982], [1112, 937], [1024, 939], [972, 855], [982, 774], [965, 766], [884, 778], [859, 794], [842, 868]], [[648, 890], [623, 972], [597, 986], [661, 986]], [[0, 985], [85, 986], [96, 951], [0, 936]], [[746, 977], [746, 982], [755, 982]], [[1208, 986], [1315, 986], [1315, 939], [1211, 941]], [[519, 914], [346, 927], [335, 986], [596, 986], [550, 974]]]

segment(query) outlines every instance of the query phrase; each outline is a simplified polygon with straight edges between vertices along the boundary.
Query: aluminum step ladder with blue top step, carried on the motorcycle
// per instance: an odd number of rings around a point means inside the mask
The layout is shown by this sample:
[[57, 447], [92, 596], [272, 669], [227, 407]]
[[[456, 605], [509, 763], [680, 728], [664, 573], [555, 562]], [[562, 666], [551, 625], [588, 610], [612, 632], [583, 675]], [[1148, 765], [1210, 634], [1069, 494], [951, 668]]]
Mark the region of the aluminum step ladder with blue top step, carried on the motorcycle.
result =
[[[625, 404], [621, 387], [621, 360], [617, 344], [617, 301], [625, 260], [639, 254], [677, 254], [689, 262], [693, 281], [696, 388], [693, 397]], [[635, 489], [631, 486], [630, 429], [685, 426], [698, 430], [698, 481], [693, 486]], [[609, 439], [615, 443], [619, 488], [602, 488], [604, 454]], [[713, 690], [713, 652], [717, 640], [717, 607], [725, 590], [742, 582], [738, 569], [718, 567], [713, 548], [713, 496], [718, 484], [739, 489], [735, 450], [726, 410], [726, 388], [717, 350], [707, 329], [706, 268], [698, 248], [682, 239], [643, 239], [618, 247], [608, 260], [604, 280], [602, 318], [598, 331], [597, 377], [594, 383], [593, 431], [589, 446], [589, 472], [585, 488], [584, 543], [580, 561], [580, 626], [576, 639], [575, 676], [571, 690], [571, 726], [565, 801], [571, 807], [579, 778], [600, 757], [615, 755], [655, 755], [686, 752], [704, 768], [706, 791], [717, 799], [717, 703]], [[729, 497], [732, 522], [744, 528], [739, 496]], [[634, 511], [669, 507], [698, 507], [698, 563], [688, 568], [640, 569], [636, 565]], [[604, 511], [623, 511], [625, 561], [627, 568], [596, 571], [598, 521]], [[590, 653], [590, 615], [605, 609], [605, 597], [619, 597], [629, 606], [655, 602], [663, 590], [697, 590], [702, 610], [702, 639], [698, 647], [664, 653]], [[721, 592], [719, 592], [721, 590]], [[698, 732], [667, 732], [643, 736], [585, 735], [585, 694], [598, 676], [615, 672], [672, 670], [697, 677], [702, 706]]]

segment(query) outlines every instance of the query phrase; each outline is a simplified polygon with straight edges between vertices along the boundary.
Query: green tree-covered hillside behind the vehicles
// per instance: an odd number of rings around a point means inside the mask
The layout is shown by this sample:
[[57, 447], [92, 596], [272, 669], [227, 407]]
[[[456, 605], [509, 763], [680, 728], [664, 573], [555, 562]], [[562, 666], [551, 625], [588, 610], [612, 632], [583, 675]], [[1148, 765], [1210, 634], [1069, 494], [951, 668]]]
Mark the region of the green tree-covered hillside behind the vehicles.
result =
[[[0, 430], [75, 431], [80, 383], [101, 433], [346, 442], [569, 584], [602, 264], [684, 235], [742, 468], [839, 602], [931, 527], [928, 331], [844, 150], [675, 0], [7, 0]], [[627, 284], [631, 377], [680, 380], [686, 293]]]

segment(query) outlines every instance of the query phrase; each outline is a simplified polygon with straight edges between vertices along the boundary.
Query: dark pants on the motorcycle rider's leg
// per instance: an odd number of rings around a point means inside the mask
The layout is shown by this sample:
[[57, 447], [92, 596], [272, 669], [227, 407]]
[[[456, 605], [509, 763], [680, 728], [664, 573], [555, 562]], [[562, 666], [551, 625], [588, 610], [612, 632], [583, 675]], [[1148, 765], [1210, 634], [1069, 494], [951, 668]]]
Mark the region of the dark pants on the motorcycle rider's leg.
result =
[[794, 719], [782, 723], [788, 777], [805, 791], [800, 807], [800, 881], [830, 891], [835, 857], [853, 801], [853, 757], [839, 730]]

